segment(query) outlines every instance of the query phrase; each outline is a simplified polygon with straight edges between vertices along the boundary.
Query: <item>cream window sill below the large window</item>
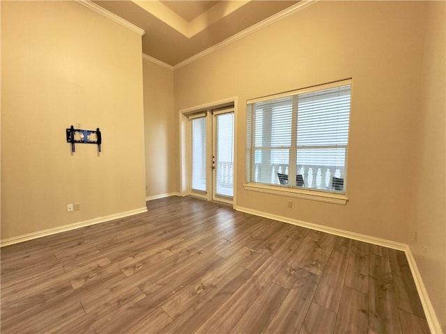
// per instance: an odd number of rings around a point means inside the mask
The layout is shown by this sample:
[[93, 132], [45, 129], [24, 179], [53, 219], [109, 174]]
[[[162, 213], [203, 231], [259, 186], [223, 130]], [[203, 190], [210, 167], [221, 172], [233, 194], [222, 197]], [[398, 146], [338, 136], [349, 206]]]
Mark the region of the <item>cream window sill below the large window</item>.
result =
[[341, 193], [330, 193], [325, 191], [296, 189], [284, 186], [270, 186], [266, 184], [243, 184], [243, 188], [248, 191], [256, 191], [259, 193], [270, 193], [272, 195], [302, 198], [304, 200], [316, 200], [318, 202], [326, 202], [337, 205], [346, 205], [348, 198]]

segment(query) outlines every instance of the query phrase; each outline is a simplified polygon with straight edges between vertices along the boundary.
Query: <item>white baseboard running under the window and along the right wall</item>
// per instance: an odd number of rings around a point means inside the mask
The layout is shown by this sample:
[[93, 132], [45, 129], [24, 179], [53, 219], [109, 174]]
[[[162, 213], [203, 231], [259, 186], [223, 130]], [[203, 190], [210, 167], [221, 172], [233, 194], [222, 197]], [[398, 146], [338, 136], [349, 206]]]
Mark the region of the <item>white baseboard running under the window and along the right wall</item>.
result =
[[426, 316], [426, 321], [429, 324], [429, 329], [431, 330], [431, 333], [434, 333], [434, 334], [443, 333], [441, 330], [440, 323], [438, 322], [438, 318], [436, 316], [435, 310], [433, 309], [431, 299], [429, 299], [429, 295], [427, 294], [426, 287], [424, 287], [424, 283], [423, 283], [420, 271], [418, 271], [417, 262], [415, 261], [415, 257], [413, 257], [412, 251], [410, 250], [410, 247], [407, 244], [402, 244], [400, 242], [371, 237], [366, 234], [350, 232], [350, 231], [341, 230], [338, 228], [330, 228], [330, 227], [324, 226], [324, 225], [308, 223], [307, 221], [299, 221], [298, 219], [288, 218], [288, 217], [284, 217], [284, 216], [277, 216], [275, 214], [268, 214], [266, 212], [247, 209], [246, 207], [235, 207], [235, 209], [237, 211], [245, 212], [247, 214], [254, 214], [255, 216], [261, 216], [263, 218], [270, 218], [275, 221], [282, 221], [284, 223], [302, 226], [303, 228], [310, 228], [312, 230], [317, 230], [317, 231], [321, 231], [321, 232], [325, 232], [325, 233], [338, 235], [339, 237], [346, 237], [348, 239], [364, 241], [369, 244], [374, 244], [374, 245], [392, 248], [392, 249], [396, 249], [396, 250], [402, 250], [404, 253], [406, 253], [406, 258], [407, 258], [407, 261], [408, 261], [408, 264], [410, 267], [410, 271], [412, 272], [413, 280], [415, 281], [415, 286], [417, 287], [418, 295], [420, 296], [420, 301], [423, 305], [424, 315]]

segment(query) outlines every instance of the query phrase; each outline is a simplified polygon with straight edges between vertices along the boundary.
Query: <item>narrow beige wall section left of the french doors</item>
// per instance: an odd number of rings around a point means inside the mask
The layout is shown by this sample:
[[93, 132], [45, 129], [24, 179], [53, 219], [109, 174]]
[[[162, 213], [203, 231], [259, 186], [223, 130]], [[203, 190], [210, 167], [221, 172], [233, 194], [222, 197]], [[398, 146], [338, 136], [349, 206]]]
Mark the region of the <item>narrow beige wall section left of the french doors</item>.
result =
[[146, 196], [178, 193], [174, 71], [143, 60]]

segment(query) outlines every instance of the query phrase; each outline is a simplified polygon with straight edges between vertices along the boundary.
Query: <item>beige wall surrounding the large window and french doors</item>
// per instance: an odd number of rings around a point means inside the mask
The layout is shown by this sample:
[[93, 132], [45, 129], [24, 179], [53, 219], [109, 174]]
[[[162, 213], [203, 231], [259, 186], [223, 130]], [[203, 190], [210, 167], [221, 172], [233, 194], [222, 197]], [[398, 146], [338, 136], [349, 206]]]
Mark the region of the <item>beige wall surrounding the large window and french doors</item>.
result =
[[[408, 240], [421, 2], [321, 1], [175, 71], [176, 109], [238, 95], [238, 207]], [[353, 78], [345, 206], [245, 191], [247, 99]]]

